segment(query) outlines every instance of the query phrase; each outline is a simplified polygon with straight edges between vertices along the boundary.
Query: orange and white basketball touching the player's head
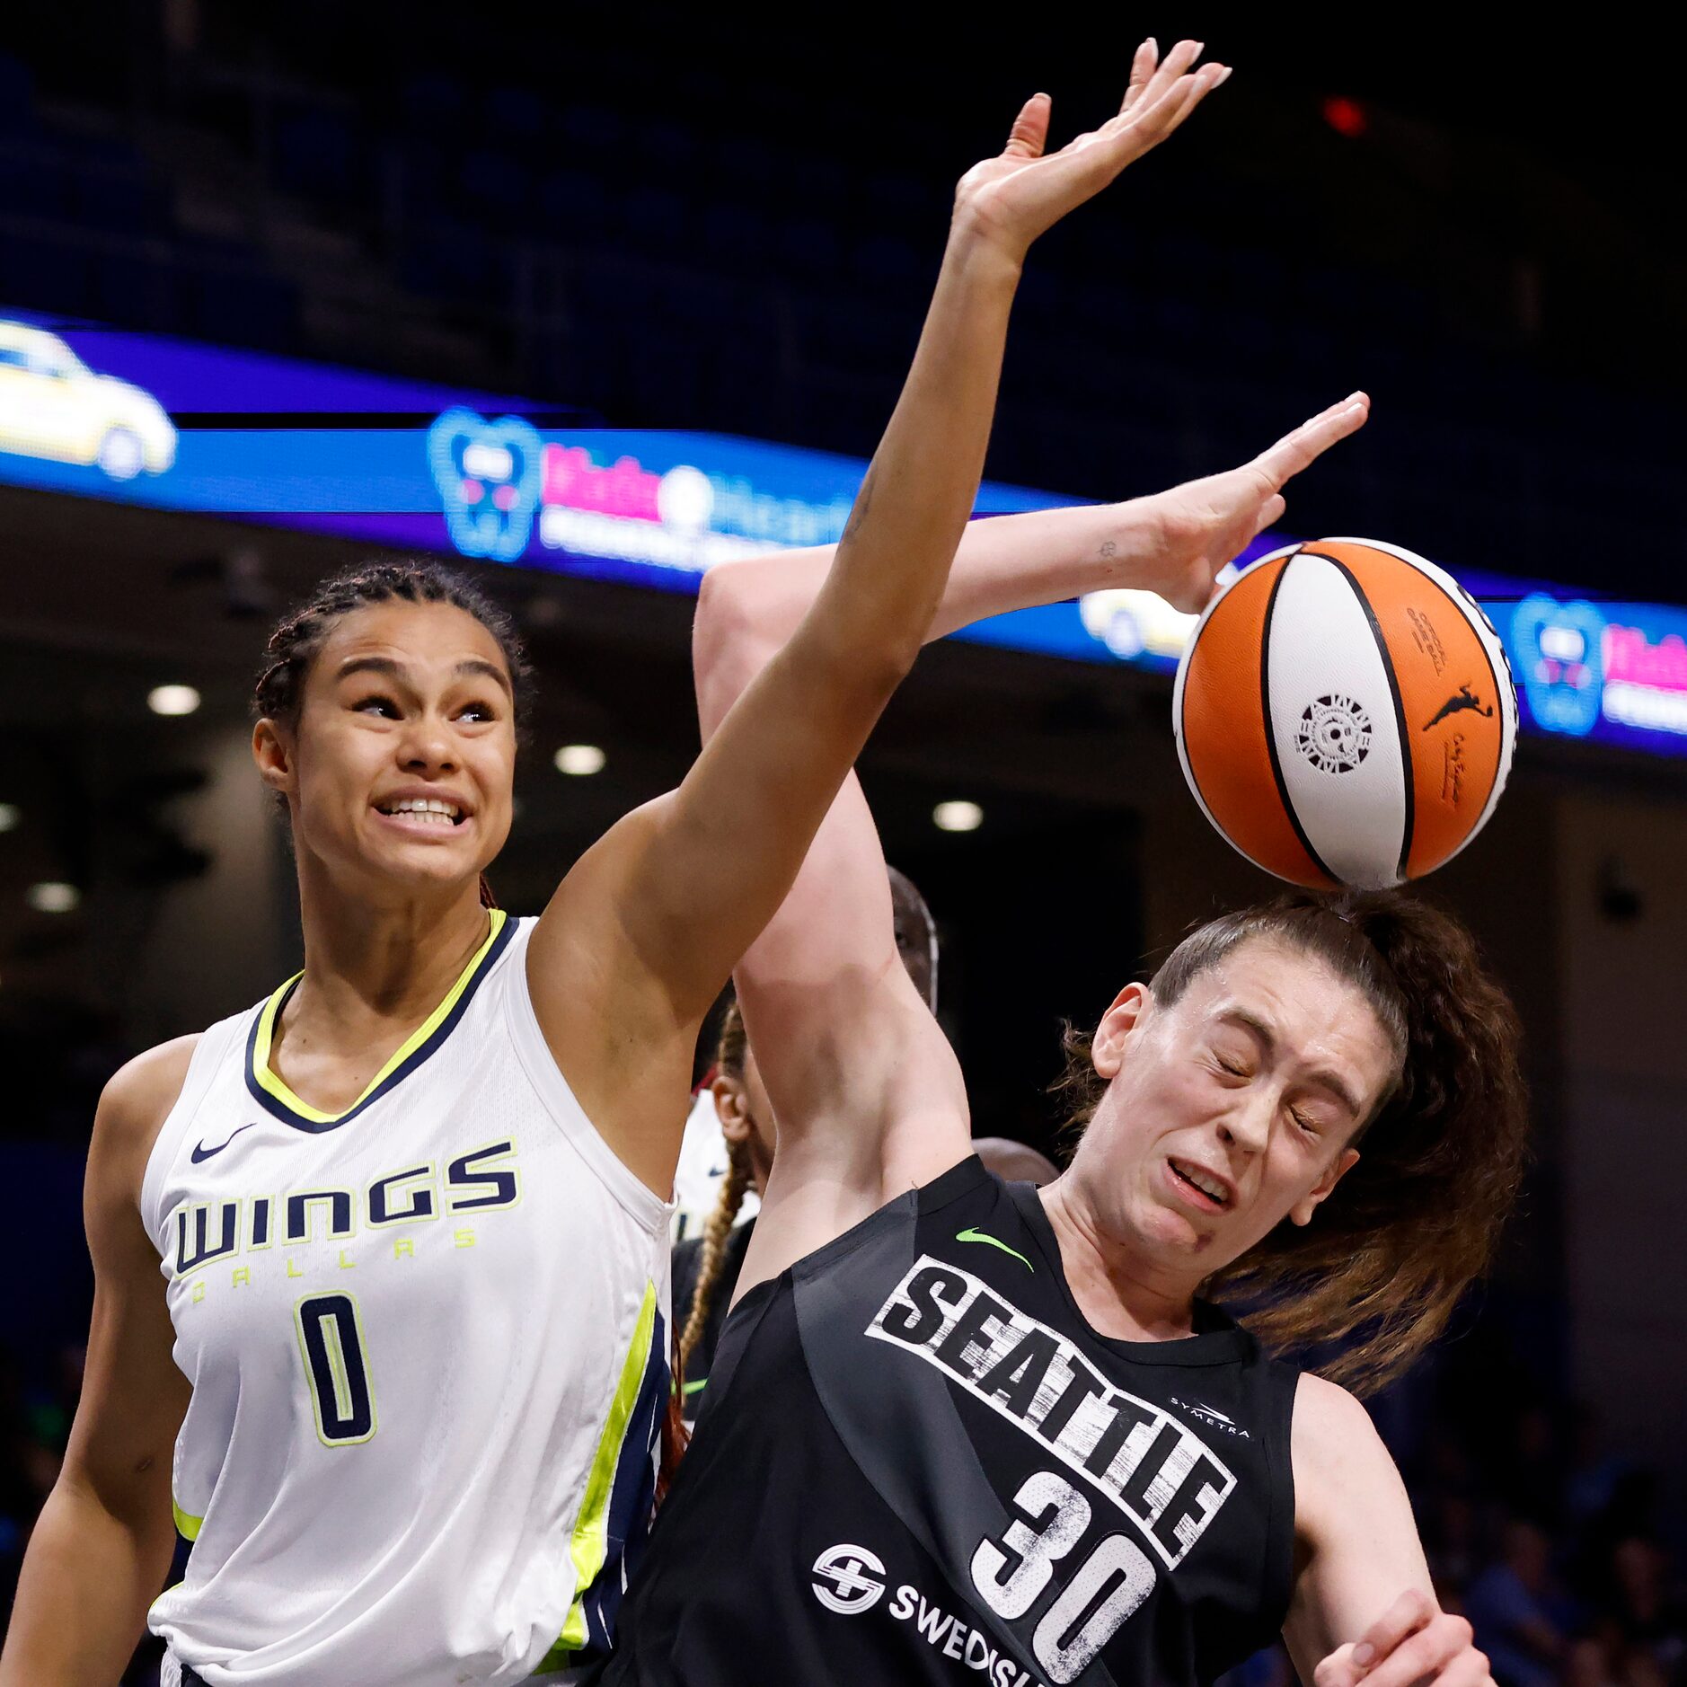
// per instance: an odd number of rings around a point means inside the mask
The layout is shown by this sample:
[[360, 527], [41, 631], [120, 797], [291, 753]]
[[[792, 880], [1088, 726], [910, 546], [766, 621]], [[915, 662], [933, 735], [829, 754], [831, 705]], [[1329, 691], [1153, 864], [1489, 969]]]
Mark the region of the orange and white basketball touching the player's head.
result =
[[1517, 739], [1505, 648], [1476, 601], [1397, 545], [1260, 558], [1208, 604], [1172, 724], [1206, 818], [1255, 865], [1380, 889], [1486, 825]]

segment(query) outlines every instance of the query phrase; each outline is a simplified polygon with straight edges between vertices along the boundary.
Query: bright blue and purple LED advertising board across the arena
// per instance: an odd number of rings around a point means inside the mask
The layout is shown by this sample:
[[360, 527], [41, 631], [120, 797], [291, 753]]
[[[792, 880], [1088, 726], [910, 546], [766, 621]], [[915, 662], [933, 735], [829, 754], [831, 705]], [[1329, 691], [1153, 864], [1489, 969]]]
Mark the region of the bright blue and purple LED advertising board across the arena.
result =
[[[695, 592], [714, 563], [838, 538], [859, 457], [0, 310], [0, 481]], [[585, 423], [585, 425], [582, 425]], [[1081, 499], [985, 482], [980, 516]], [[1238, 558], [1287, 543], [1262, 535]], [[1687, 611], [1454, 569], [1528, 729], [1687, 754]], [[1171, 673], [1194, 626], [1149, 592], [957, 638]]]

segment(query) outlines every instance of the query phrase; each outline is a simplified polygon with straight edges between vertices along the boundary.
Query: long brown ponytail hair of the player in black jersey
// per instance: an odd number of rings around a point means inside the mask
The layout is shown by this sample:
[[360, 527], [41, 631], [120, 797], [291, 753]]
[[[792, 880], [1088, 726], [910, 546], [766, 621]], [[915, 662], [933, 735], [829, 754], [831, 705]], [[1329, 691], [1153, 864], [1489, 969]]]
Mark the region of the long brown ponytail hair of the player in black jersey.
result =
[[[1358, 1164], [1312, 1216], [1284, 1220], [1205, 1284], [1270, 1350], [1323, 1353], [1333, 1382], [1370, 1393], [1399, 1377], [1479, 1277], [1517, 1199], [1528, 1135], [1522, 1027], [1469, 931], [1399, 891], [1294, 892], [1186, 936], [1149, 980], [1169, 1007], [1233, 948], [1275, 940], [1355, 984], [1397, 1049], [1397, 1080], [1353, 1142]], [[1107, 1080], [1066, 1031], [1071, 1125]]]

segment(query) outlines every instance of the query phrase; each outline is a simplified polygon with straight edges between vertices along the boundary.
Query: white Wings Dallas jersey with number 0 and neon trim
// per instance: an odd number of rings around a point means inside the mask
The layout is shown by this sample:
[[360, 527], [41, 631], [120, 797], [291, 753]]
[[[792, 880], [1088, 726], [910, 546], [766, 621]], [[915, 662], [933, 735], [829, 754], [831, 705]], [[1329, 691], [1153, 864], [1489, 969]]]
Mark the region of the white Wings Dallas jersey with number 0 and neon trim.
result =
[[[616, 1159], [493, 931], [358, 1103], [270, 1071], [292, 984], [213, 1026], [142, 1186], [211, 1687], [567, 1679], [607, 1647], [668, 1397], [668, 1203]], [[169, 1675], [165, 1677], [169, 1679]]]

